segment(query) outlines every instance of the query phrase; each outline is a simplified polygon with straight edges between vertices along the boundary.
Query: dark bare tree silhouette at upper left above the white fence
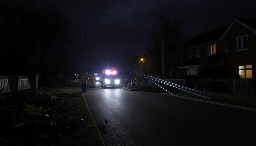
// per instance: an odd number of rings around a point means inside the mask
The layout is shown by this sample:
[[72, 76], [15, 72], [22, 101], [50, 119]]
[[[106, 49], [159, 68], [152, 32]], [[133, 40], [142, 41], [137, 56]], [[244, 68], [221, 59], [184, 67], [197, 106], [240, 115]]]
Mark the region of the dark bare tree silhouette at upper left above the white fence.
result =
[[34, 71], [44, 70], [42, 67], [50, 55], [49, 50], [55, 49], [53, 44], [70, 41], [67, 21], [63, 21], [67, 16], [53, 5], [35, 8], [28, 1], [27, 6], [19, 7], [12, 1], [3, 0], [0, 9], [3, 21], [0, 30], [5, 36], [0, 40], [1, 48], [4, 48], [1, 61], [11, 60], [5, 67], [15, 66], [6, 71], [8, 73], [29, 72], [32, 63]]

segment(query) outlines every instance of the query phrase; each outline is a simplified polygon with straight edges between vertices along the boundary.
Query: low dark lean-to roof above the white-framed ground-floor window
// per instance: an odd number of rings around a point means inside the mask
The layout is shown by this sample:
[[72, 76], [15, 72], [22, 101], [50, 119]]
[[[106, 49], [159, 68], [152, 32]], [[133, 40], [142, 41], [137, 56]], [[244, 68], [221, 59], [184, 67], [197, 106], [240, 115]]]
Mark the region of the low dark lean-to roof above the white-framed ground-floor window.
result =
[[224, 57], [224, 55], [225, 54], [218, 54], [195, 59], [187, 59], [179, 65], [179, 68], [188, 68], [192, 66], [200, 66], [207, 64], [219, 64], [220, 60]]

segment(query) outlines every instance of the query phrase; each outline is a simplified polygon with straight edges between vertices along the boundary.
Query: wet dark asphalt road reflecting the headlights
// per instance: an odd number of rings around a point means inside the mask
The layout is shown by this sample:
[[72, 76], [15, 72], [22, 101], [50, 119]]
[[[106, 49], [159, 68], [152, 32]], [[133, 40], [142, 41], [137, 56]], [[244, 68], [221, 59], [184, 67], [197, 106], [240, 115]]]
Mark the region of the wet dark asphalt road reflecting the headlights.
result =
[[256, 145], [256, 112], [101, 88], [100, 83], [87, 91], [84, 95], [96, 124], [108, 120], [102, 134], [107, 146]]

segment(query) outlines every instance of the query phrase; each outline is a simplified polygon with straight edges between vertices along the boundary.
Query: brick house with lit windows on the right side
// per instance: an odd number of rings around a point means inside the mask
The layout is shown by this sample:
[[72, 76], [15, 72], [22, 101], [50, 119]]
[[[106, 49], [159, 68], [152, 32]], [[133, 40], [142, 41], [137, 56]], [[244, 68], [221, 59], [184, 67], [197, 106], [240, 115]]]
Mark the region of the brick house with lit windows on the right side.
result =
[[216, 66], [216, 74], [223, 78], [256, 77], [256, 17], [235, 18], [223, 26], [192, 38], [176, 55], [177, 75], [196, 76], [204, 65]]

